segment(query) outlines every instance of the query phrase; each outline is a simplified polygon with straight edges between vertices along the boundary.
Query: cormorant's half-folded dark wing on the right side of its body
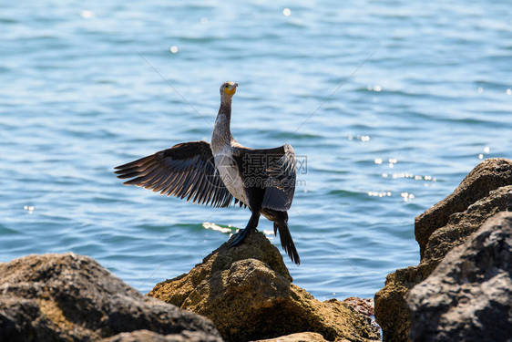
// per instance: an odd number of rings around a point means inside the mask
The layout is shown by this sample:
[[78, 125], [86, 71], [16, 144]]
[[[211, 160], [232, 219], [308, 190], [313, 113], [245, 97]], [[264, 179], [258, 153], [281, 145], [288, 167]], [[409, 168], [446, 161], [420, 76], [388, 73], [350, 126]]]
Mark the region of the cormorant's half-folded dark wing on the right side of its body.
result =
[[262, 163], [264, 170], [256, 172], [264, 181], [263, 208], [287, 211], [292, 206], [297, 178], [295, 152], [285, 144], [275, 149], [247, 150], [243, 157], [244, 169], [255, 170]]

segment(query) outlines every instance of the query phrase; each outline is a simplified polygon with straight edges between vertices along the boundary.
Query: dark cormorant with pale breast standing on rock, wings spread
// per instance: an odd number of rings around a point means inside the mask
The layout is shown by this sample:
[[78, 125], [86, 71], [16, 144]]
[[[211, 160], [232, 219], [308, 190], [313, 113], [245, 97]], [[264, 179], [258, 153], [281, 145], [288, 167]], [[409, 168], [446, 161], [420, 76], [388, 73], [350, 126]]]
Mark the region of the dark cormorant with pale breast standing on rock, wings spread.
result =
[[295, 264], [301, 259], [288, 229], [288, 213], [295, 192], [296, 161], [292, 146], [249, 149], [230, 131], [231, 98], [237, 83], [220, 86], [220, 109], [206, 141], [179, 143], [148, 157], [116, 167], [126, 185], [143, 186], [186, 199], [187, 202], [227, 207], [232, 202], [249, 207], [251, 219], [236, 233], [230, 247], [241, 244], [255, 230], [262, 214], [274, 223], [284, 251]]

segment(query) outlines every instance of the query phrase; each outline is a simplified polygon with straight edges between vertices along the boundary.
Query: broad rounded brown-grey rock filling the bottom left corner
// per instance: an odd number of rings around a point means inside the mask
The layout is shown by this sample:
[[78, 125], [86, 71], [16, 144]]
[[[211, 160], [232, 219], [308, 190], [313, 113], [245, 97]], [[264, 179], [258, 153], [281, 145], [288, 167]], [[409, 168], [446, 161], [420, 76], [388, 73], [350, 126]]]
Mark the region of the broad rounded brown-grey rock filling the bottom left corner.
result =
[[142, 329], [222, 340], [206, 318], [140, 295], [87, 256], [29, 255], [0, 264], [2, 341], [90, 341]]

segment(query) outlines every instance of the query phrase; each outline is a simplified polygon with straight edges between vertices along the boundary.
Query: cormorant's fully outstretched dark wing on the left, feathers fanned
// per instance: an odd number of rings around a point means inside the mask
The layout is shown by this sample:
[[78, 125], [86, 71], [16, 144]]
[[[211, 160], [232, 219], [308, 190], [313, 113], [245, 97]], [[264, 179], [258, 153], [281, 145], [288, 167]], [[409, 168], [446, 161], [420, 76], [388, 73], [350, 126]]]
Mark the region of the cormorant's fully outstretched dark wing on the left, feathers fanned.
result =
[[183, 142], [168, 150], [116, 167], [126, 185], [143, 186], [160, 194], [172, 195], [214, 207], [227, 207], [233, 200], [215, 168], [210, 144]]

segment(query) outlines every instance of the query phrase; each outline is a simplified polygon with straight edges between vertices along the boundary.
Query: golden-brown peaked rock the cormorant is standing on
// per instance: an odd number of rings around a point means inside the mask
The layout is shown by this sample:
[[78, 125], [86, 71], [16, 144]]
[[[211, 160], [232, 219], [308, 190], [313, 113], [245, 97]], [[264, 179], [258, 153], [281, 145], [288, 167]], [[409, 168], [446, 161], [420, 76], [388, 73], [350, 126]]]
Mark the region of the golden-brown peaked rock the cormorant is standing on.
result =
[[320, 302], [292, 284], [282, 255], [262, 233], [236, 248], [229, 242], [186, 275], [159, 283], [148, 294], [209, 317], [228, 341], [300, 333], [327, 340], [377, 339], [370, 318], [335, 299]]

